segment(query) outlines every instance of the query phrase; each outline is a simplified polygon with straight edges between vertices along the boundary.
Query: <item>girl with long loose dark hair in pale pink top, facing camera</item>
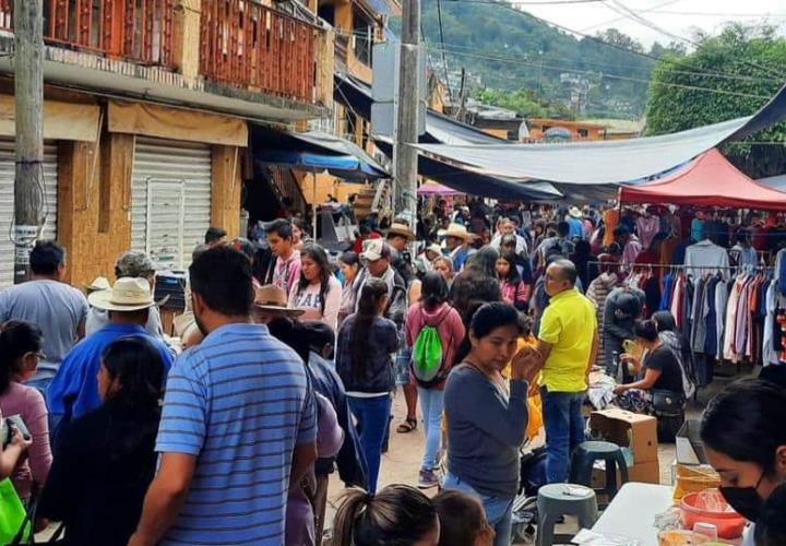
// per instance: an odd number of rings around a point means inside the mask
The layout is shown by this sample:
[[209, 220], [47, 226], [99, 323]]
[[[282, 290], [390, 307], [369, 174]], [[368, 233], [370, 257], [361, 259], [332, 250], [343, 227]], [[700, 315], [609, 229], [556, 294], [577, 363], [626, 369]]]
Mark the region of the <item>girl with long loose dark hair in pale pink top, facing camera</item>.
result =
[[319, 245], [307, 245], [300, 250], [300, 280], [289, 293], [289, 307], [306, 311], [300, 320], [319, 320], [335, 330], [341, 300], [341, 283], [327, 252]]

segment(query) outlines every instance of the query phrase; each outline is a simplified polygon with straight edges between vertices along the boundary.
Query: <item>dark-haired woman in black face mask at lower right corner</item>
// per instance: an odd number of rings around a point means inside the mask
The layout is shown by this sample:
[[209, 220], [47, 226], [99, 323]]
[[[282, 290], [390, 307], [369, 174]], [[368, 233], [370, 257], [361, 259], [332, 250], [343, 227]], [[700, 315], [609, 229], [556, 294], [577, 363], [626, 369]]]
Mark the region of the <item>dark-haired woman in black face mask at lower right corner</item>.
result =
[[[710, 402], [701, 438], [720, 475], [720, 492], [753, 524], [764, 501], [786, 483], [786, 385], [763, 379], [730, 384]], [[743, 546], [753, 546], [753, 530]]]

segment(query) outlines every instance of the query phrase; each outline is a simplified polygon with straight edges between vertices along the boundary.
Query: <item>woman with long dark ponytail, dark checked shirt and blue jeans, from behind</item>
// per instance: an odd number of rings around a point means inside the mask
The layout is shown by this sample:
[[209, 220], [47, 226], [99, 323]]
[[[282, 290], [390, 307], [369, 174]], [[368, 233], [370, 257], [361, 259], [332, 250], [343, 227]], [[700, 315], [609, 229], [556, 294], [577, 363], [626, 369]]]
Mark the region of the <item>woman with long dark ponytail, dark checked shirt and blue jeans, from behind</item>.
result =
[[358, 310], [338, 331], [336, 371], [346, 389], [349, 408], [360, 423], [360, 444], [369, 468], [368, 490], [377, 490], [382, 443], [395, 389], [391, 354], [398, 348], [395, 322], [382, 314], [388, 284], [369, 278], [360, 290]]

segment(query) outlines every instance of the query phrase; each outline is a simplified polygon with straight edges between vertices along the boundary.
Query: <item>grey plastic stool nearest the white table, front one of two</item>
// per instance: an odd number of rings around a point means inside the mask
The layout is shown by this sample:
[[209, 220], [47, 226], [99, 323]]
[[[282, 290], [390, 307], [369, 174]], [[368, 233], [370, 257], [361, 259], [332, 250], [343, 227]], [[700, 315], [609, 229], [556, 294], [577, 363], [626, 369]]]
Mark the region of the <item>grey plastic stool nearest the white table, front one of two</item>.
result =
[[553, 527], [562, 515], [575, 515], [581, 527], [592, 529], [597, 520], [595, 491], [582, 485], [550, 484], [538, 490], [537, 546], [569, 544], [572, 535], [555, 535]]

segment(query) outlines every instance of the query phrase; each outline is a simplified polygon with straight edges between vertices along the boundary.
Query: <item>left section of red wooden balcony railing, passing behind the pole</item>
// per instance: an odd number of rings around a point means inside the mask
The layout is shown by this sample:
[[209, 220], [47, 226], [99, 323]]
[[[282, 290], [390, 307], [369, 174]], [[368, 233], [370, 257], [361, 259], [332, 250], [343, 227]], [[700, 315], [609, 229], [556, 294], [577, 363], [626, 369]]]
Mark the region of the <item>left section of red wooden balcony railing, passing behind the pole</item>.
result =
[[[0, 29], [13, 31], [13, 0], [0, 0]], [[175, 0], [44, 0], [48, 44], [127, 59], [174, 64]]]

